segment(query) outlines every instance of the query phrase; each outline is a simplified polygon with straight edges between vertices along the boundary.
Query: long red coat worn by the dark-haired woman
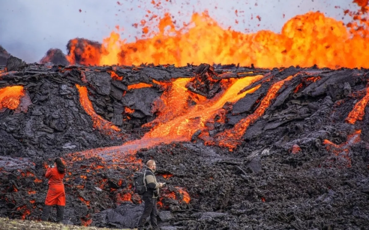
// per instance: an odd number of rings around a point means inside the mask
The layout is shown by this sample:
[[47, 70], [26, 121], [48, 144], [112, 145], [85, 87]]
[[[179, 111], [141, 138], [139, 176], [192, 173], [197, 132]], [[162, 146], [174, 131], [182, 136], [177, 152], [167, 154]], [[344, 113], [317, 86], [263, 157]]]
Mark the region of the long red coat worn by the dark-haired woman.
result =
[[47, 169], [45, 177], [49, 179], [49, 191], [46, 195], [45, 205], [65, 206], [64, 176], [65, 173], [59, 173], [56, 167]]

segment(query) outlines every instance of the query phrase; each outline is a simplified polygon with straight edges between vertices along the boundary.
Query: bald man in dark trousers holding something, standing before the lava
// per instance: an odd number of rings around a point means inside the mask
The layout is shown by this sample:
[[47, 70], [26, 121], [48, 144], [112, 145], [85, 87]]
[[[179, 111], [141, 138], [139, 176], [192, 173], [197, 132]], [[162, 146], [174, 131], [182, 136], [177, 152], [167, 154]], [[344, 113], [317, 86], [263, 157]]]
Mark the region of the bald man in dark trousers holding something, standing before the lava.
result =
[[158, 223], [156, 219], [157, 209], [156, 209], [156, 201], [159, 197], [159, 188], [163, 187], [165, 183], [160, 183], [156, 181], [156, 177], [154, 175], [156, 171], [156, 163], [154, 160], [149, 160], [146, 163], [146, 171], [144, 183], [146, 185], [146, 192], [142, 195], [142, 199], [145, 202], [144, 212], [142, 213], [139, 221], [138, 221], [138, 230], [144, 229], [145, 220], [148, 216], [150, 216], [151, 226], [154, 230], [158, 230]]

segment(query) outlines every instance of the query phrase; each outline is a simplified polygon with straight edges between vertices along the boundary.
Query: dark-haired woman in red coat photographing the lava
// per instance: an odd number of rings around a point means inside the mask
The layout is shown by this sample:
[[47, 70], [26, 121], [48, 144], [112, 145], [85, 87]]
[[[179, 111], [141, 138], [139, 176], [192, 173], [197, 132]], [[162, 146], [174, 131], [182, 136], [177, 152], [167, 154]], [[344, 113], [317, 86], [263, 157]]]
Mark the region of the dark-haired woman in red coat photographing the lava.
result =
[[66, 167], [60, 158], [56, 158], [54, 160], [54, 166], [49, 166], [46, 171], [45, 177], [49, 179], [49, 190], [41, 215], [41, 220], [43, 221], [49, 219], [52, 205], [56, 205], [56, 222], [61, 222], [63, 220], [65, 207], [63, 178], [65, 173]]

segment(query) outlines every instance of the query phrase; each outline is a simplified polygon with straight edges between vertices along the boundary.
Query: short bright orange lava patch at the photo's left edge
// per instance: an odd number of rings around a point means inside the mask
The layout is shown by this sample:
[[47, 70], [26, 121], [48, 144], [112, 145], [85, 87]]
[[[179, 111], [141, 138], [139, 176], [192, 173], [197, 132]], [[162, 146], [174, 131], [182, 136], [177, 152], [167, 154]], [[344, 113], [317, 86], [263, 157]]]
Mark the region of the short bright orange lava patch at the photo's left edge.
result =
[[17, 109], [24, 96], [23, 86], [7, 86], [0, 89], [0, 110], [3, 108]]

